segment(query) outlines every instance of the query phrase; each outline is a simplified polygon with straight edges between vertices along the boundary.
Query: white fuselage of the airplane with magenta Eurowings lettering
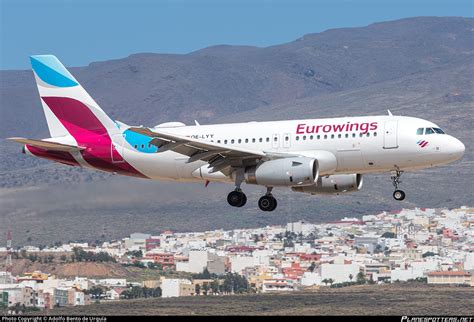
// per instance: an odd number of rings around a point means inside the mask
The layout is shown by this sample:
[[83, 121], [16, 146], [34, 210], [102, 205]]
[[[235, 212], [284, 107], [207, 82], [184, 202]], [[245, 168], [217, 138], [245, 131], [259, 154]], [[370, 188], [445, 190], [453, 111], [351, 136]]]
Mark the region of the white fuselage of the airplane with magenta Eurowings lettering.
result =
[[[464, 145], [458, 139], [439, 133], [417, 134], [420, 128], [438, 126], [419, 118], [390, 115], [160, 127], [171, 134], [228, 146], [335, 157], [337, 166], [321, 169], [320, 175], [409, 171], [446, 164], [463, 155]], [[232, 181], [221, 173], [208, 174], [206, 162], [186, 163], [189, 157], [185, 155], [140, 151], [140, 144], [127, 141], [126, 131], [124, 136], [114, 138], [117, 150], [151, 179]], [[420, 141], [427, 144], [420, 145]]]

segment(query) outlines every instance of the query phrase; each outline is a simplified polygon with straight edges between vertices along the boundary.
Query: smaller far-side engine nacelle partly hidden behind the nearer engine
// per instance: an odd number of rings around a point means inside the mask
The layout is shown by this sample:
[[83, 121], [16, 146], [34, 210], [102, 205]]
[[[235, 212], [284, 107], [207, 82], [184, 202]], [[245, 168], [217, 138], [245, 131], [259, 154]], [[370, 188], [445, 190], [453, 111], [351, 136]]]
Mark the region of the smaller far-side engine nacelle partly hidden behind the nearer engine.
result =
[[358, 191], [362, 188], [361, 174], [335, 174], [319, 177], [316, 184], [304, 187], [292, 187], [296, 192], [310, 194], [333, 194]]

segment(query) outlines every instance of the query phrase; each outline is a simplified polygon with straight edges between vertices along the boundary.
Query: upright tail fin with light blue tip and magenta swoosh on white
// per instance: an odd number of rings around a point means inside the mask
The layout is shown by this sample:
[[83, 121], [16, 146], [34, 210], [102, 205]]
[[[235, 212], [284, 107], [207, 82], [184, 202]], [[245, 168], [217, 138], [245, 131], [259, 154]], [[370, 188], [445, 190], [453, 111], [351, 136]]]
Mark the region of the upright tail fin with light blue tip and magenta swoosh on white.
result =
[[53, 55], [30, 56], [51, 137], [119, 132], [115, 122]]

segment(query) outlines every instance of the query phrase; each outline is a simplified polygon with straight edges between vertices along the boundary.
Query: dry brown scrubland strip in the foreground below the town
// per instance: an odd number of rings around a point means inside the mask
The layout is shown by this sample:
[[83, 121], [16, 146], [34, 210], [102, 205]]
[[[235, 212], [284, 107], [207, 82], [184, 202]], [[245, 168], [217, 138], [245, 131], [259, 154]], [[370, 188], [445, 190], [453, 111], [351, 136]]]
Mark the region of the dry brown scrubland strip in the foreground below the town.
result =
[[472, 315], [474, 288], [420, 284], [294, 294], [141, 299], [59, 308], [73, 315]]

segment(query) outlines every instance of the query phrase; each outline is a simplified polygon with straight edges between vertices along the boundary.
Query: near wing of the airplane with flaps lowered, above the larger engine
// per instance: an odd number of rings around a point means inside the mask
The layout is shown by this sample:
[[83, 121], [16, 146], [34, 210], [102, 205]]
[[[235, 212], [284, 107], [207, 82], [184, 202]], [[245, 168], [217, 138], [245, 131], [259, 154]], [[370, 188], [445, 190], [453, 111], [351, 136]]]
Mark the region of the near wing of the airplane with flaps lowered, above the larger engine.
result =
[[146, 127], [130, 127], [128, 130], [151, 137], [150, 144], [158, 147], [157, 153], [171, 150], [187, 155], [189, 157], [187, 163], [198, 160], [208, 162], [212, 168], [210, 173], [221, 171], [228, 175], [230, 167], [254, 165], [260, 159], [270, 157], [264, 151], [202, 141]]

